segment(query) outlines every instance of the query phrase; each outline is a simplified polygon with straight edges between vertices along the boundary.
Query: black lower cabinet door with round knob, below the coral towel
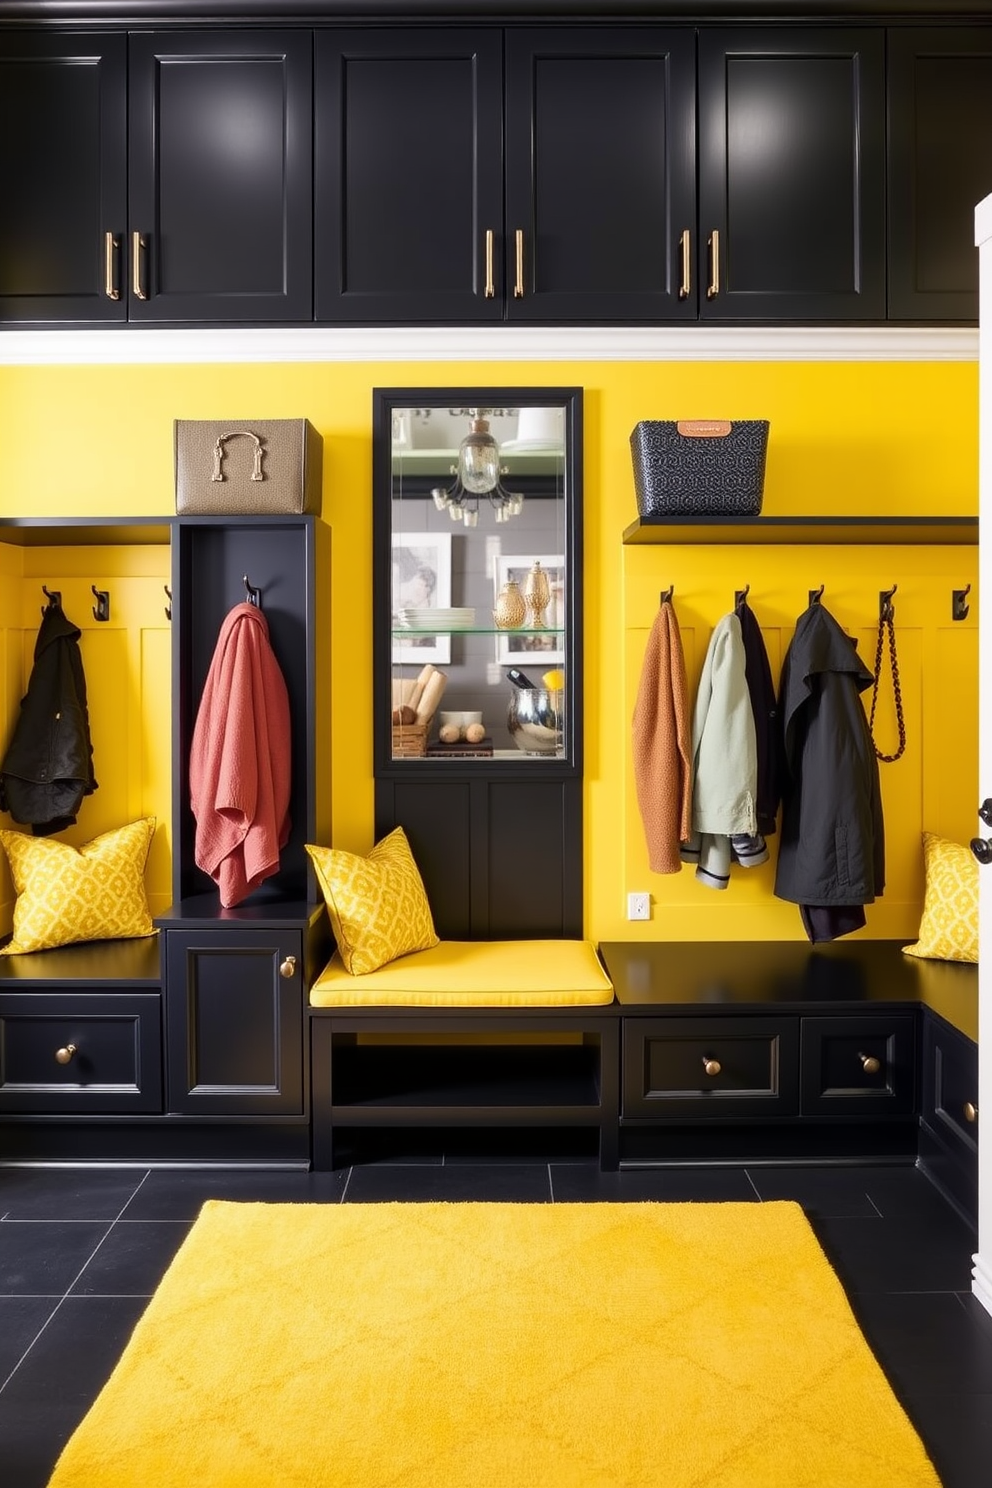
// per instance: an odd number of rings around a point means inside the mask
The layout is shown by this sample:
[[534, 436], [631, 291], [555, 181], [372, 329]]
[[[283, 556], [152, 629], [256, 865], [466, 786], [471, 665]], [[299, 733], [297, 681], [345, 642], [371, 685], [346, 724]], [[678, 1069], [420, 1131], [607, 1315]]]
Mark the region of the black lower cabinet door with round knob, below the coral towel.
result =
[[303, 1113], [303, 949], [299, 930], [168, 930], [171, 1112]]

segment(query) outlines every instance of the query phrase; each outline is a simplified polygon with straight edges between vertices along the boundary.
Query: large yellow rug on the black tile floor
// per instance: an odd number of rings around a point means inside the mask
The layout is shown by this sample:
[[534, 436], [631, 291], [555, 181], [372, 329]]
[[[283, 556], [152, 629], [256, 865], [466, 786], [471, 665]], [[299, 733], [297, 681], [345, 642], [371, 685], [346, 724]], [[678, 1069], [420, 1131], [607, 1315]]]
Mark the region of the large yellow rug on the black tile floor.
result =
[[226, 1204], [57, 1488], [938, 1488], [796, 1204]]

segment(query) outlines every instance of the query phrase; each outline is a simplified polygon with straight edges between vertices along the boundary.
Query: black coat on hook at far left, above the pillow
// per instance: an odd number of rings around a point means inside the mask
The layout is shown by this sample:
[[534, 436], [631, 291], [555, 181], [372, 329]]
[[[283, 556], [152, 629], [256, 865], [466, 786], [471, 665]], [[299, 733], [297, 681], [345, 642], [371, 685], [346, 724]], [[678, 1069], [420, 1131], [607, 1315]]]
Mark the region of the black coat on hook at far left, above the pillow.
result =
[[34, 667], [0, 763], [0, 808], [36, 836], [76, 820], [97, 789], [79, 626], [49, 604], [34, 643]]

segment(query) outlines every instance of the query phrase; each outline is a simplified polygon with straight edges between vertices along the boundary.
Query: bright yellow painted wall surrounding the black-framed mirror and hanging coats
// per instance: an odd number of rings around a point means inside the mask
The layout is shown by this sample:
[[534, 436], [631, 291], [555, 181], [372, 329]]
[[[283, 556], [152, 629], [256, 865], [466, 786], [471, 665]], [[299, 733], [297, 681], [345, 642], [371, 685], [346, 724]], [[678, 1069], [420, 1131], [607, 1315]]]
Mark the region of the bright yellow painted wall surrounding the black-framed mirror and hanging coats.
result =
[[[173, 420], [260, 417], [309, 418], [324, 436], [324, 512], [333, 528], [330, 574], [323, 576], [330, 616], [333, 839], [364, 851], [372, 842], [372, 390], [428, 385], [580, 385], [584, 388], [583, 598], [586, 618], [586, 933], [595, 939], [802, 936], [797, 914], [773, 900], [764, 879], [714, 903], [684, 870], [662, 884], [644, 881], [632, 812], [629, 717], [638, 664], [638, 632], [648, 623], [650, 595], [668, 583], [686, 595], [693, 646], [702, 655], [706, 626], [750, 582], [759, 619], [782, 647], [803, 607], [806, 588], [836, 591], [842, 623], [857, 629], [866, 655], [877, 613], [877, 589], [900, 583], [897, 620], [912, 625], [906, 653], [915, 723], [921, 738], [900, 784], [886, 783], [892, 815], [916, 801], [912, 829], [894, 826], [895, 890], [870, 931], [909, 933], [919, 909], [919, 818], [959, 833], [973, 821], [977, 766], [977, 655], [974, 635], [946, 634], [940, 609], [953, 586], [976, 585], [974, 554], [940, 573], [921, 568], [919, 554], [873, 549], [867, 568], [845, 549], [827, 557], [766, 551], [760, 562], [741, 554], [689, 551], [669, 561], [660, 548], [625, 549], [623, 528], [635, 518], [629, 433], [640, 418], [769, 418], [764, 512], [775, 513], [958, 513], [977, 512], [977, 366], [974, 363], [293, 363], [244, 366], [0, 368], [0, 515], [168, 515], [173, 498]], [[12, 561], [0, 557], [3, 564]], [[34, 561], [34, 558], [31, 558]], [[696, 567], [693, 567], [693, 564]], [[851, 565], [855, 565], [851, 568]], [[857, 570], [857, 582], [848, 571]], [[952, 573], [953, 570], [953, 573]], [[934, 580], [933, 615], [924, 591]], [[843, 595], [843, 598], [840, 598]], [[973, 588], [973, 598], [977, 598]], [[1, 606], [3, 601], [0, 601]], [[1, 613], [1, 610], [0, 610]], [[680, 616], [681, 616], [680, 609]], [[947, 609], [949, 613], [949, 609]], [[977, 604], [971, 610], [971, 625]], [[967, 629], [968, 626], [965, 626]], [[965, 656], [971, 644], [970, 656]], [[949, 659], [947, 649], [953, 653]], [[901, 658], [900, 658], [901, 659]], [[946, 682], [934, 713], [933, 671]], [[1, 664], [0, 664], [1, 665]], [[327, 668], [321, 667], [326, 674]], [[952, 679], [959, 679], [953, 680]], [[0, 707], [9, 707], [10, 677]], [[916, 689], [916, 690], [913, 690]], [[953, 708], [949, 707], [949, 693]], [[149, 720], [168, 728], [167, 689]], [[965, 741], [961, 748], [961, 741]], [[128, 745], [131, 747], [131, 745]], [[900, 771], [897, 766], [883, 769]], [[913, 781], [910, 783], [910, 771]], [[161, 777], [162, 766], [152, 766]], [[941, 775], [950, 774], [953, 786]], [[895, 780], [895, 777], [892, 777]], [[906, 784], [903, 784], [906, 781]], [[156, 786], [158, 792], [161, 787]], [[947, 798], [950, 790], [950, 798]], [[935, 805], [934, 805], [935, 802]], [[968, 823], [964, 824], [967, 805]], [[95, 818], [94, 818], [95, 820]], [[86, 832], [86, 818], [80, 830]], [[937, 829], [937, 824], [930, 821]], [[101, 830], [95, 827], [94, 830]], [[943, 826], [940, 827], [943, 830]], [[906, 862], [903, 862], [903, 859]], [[759, 870], [761, 872], [761, 870]], [[656, 918], [634, 927], [625, 918], [628, 888], [650, 888]], [[674, 899], [671, 896], [675, 896]], [[747, 897], [744, 897], [747, 894]], [[733, 897], [732, 897], [733, 896]], [[674, 912], [668, 912], [668, 906]], [[692, 912], [690, 912], [692, 911]]]

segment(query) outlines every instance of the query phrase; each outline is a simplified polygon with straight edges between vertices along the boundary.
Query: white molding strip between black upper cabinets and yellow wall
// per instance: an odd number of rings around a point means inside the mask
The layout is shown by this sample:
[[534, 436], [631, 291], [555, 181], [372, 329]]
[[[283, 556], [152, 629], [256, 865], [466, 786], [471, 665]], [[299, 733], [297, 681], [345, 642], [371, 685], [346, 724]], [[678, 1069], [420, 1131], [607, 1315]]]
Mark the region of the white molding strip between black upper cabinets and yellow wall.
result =
[[979, 332], [840, 326], [0, 330], [0, 366], [198, 362], [977, 362]]

